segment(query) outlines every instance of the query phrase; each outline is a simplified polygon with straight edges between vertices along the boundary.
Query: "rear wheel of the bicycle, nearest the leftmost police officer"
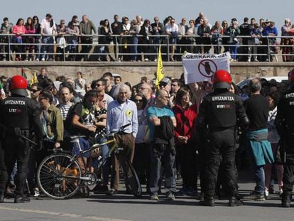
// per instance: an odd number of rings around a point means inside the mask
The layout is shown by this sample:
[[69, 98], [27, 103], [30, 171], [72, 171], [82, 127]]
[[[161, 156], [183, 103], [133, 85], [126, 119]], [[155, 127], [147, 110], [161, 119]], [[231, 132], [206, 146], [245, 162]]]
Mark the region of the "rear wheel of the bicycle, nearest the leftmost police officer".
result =
[[43, 159], [38, 167], [37, 182], [45, 195], [55, 200], [70, 198], [79, 189], [82, 170], [72, 156], [52, 154]]

